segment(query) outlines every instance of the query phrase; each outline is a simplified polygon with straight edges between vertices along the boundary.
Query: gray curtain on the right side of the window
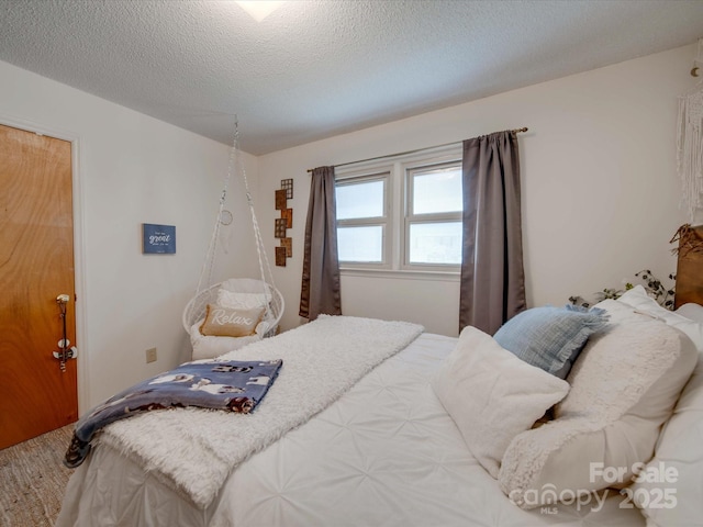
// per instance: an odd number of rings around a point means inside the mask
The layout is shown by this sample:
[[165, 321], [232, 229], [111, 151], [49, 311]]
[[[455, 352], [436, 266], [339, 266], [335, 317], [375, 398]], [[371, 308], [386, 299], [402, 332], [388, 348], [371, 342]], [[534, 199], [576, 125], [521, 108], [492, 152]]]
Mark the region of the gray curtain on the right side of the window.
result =
[[515, 132], [464, 142], [464, 246], [459, 330], [489, 335], [525, 309]]

